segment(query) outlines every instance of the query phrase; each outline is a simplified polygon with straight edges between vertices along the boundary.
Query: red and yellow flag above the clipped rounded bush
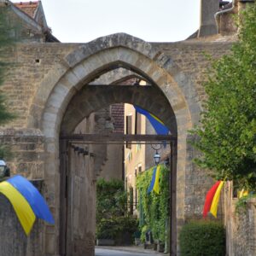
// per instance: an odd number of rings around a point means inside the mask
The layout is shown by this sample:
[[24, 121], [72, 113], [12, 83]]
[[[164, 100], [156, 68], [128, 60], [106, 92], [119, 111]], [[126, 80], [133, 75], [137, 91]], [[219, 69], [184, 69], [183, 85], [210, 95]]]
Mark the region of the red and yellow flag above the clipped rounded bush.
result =
[[211, 212], [212, 215], [217, 218], [218, 201], [221, 189], [224, 185], [224, 181], [216, 182], [211, 189], [207, 192], [205, 205], [203, 209], [203, 217], [207, 217], [207, 213]]

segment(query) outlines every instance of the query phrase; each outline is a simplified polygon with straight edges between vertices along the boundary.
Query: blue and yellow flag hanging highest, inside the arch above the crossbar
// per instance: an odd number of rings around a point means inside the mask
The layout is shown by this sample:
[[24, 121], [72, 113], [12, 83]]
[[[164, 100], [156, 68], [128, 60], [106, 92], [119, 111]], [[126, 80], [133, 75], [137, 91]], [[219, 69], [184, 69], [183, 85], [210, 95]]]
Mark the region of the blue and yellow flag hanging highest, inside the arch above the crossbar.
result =
[[150, 124], [154, 127], [154, 131], [158, 135], [167, 135], [169, 133], [169, 129], [166, 127], [166, 125], [156, 116], [154, 116], [154, 114], [149, 113], [143, 108], [139, 108], [137, 106], [134, 106], [134, 108], [136, 109], [137, 113], [141, 113], [147, 117]]

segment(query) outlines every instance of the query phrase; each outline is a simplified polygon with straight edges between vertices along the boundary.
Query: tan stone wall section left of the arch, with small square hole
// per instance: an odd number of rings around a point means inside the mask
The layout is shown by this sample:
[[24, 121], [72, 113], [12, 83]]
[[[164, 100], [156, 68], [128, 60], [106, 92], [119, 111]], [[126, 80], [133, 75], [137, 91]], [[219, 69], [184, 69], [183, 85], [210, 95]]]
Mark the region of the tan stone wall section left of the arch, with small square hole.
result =
[[[55, 43], [17, 44], [9, 49], [7, 61], [11, 65], [1, 89], [6, 95], [9, 110], [15, 113], [17, 118], [5, 127], [27, 127], [32, 98], [40, 83], [71, 49], [72, 47], [62, 47], [61, 44]], [[37, 115], [35, 112], [33, 114]]]

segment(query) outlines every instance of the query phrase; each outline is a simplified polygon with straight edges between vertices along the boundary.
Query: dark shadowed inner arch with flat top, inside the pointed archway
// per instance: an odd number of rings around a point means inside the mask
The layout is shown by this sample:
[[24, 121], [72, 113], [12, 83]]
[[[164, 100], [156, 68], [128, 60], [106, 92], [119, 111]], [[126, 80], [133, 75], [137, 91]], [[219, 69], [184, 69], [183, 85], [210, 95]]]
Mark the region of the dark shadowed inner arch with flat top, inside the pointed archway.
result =
[[[150, 99], [150, 100], [149, 100]], [[73, 96], [61, 124], [61, 133], [71, 134], [79, 122], [92, 112], [108, 107], [113, 103], [131, 103], [161, 120], [170, 128], [172, 134], [177, 134], [177, 124], [170, 103], [166, 96], [154, 86], [129, 85], [87, 85]]]

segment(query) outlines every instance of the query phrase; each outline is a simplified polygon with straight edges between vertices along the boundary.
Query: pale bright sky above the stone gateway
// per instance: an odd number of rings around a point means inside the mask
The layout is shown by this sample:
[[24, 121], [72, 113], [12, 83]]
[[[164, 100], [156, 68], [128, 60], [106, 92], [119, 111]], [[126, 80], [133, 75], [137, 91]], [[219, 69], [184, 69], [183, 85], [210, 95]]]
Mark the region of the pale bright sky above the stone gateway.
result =
[[41, 2], [48, 26], [62, 43], [86, 43], [116, 32], [148, 42], [175, 42], [194, 33], [200, 21], [201, 0]]

